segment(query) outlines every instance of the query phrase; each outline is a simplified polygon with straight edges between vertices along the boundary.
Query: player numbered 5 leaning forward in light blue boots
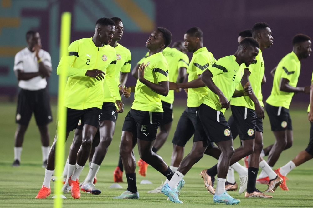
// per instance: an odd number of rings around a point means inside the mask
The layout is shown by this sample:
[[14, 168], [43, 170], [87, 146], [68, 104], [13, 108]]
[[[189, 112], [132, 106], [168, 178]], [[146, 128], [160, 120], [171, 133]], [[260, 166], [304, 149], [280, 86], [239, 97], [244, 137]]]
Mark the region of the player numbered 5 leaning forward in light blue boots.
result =
[[171, 201], [182, 203], [178, 199], [177, 185], [179, 181], [203, 157], [208, 145], [215, 142], [222, 153], [218, 160], [218, 183], [213, 201], [227, 204], [240, 202], [240, 200], [229, 196], [225, 190], [227, 171], [234, 149], [232, 134], [224, 117], [224, 112], [229, 108], [229, 101], [232, 97], [247, 96], [252, 93], [249, 82], [244, 86], [244, 90], [238, 91], [236, 86], [240, 83], [243, 75], [243, 64], [249, 66], [255, 61], [259, 47], [257, 41], [247, 37], [240, 42], [234, 55], [220, 58], [201, 74], [200, 79], [210, 90], [198, 109], [192, 150], [182, 160], [172, 179], [162, 187], [162, 192]]

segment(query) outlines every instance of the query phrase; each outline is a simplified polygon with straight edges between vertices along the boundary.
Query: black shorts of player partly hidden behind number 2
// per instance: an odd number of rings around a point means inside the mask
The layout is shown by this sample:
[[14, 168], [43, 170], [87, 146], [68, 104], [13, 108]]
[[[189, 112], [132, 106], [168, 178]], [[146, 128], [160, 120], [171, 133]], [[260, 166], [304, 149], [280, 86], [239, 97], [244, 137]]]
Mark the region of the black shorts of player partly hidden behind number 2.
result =
[[[114, 123], [116, 123], [117, 115], [118, 113], [116, 113], [116, 106], [113, 102], [104, 102], [102, 104], [100, 121], [113, 121]], [[77, 125], [77, 129], [82, 130], [84, 122], [80, 119], [80, 122], [78, 124], [79, 125]]]

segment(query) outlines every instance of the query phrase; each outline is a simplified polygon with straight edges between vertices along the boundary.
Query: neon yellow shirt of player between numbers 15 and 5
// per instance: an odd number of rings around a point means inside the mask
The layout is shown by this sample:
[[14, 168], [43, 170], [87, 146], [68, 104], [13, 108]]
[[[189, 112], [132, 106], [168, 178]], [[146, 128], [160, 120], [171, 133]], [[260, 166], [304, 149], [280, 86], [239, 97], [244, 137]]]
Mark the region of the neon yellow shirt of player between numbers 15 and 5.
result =
[[[198, 79], [198, 75], [202, 74], [205, 69], [215, 63], [216, 60], [206, 47], [199, 48], [193, 53], [192, 59], [188, 67], [188, 82]], [[208, 94], [208, 87], [190, 88], [188, 89], [187, 107], [199, 107], [203, 102], [203, 97]]]

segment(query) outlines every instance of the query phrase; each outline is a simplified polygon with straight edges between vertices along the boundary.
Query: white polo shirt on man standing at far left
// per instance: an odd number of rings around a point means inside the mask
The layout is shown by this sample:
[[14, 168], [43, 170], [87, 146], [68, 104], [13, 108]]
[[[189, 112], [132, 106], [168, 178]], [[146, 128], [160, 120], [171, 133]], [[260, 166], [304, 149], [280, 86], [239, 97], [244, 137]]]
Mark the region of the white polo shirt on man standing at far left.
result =
[[[51, 56], [48, 52], [40, 49], [39, 57], [44, 65], [52, 67]], [[14, 58], [14, 71], [22, 70], [25, 73], [39, 72], [39, 64], [35, 52], [31, 52], [27, 47], [18, 52]], [[34, 77], [30, 80], [20, 80], [18, 87], [25, 90], [40, 90], [47, 86], [46, 78], [41, 76]]]

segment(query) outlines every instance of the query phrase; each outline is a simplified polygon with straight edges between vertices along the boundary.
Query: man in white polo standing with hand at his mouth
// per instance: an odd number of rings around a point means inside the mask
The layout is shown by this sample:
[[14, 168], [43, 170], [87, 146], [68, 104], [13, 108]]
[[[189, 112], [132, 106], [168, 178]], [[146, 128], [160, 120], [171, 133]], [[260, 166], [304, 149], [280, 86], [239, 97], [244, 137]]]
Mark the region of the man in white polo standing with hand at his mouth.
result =
[[14, 72], [21, 88], [18, 94], [16, 111], [14, 162], [19, 166], [21, 161], [22, 144], [28, 123], [34, 113], [40, 131], [42, 143], [43, 165], [47, 165], [49, 153], [48, 124], [52, 121], [50, 97], [46, 89], [47, 80], [52, 72], [50, 54], [41, 49], [41, 39], [38, 32], [30, 30], [26, 33], [27, 47], [18, 52], [14, 59]]

